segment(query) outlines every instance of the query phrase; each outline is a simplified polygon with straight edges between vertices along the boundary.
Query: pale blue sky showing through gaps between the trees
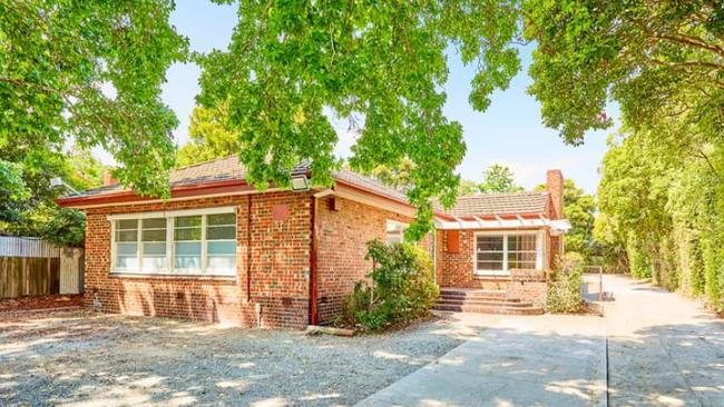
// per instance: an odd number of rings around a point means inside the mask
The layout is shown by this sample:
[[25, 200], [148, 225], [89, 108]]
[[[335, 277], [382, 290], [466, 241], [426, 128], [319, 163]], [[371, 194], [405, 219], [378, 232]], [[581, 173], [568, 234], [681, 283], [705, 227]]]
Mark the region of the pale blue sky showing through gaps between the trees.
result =
[[[172, 23], [179, 33], [188, 37], [192, 50], [199, 52], [225, 50], [236, 21], [235, 6], [217, 6], [200, 0], [177, 1], [172, 14]], [[444, 87], [448, 95], [444, 112], [450, 120], [462, 125], [468, 146], [458, 170], [464, 179], [481, 181], [482, 171], [488, 166], [506, 165], [519, 185], [531, 189], [545, 182], [547, 169], [555, 168], [593, 193], [606, 151], [606, 137], [613, 128], [588, 133], [579, 147], [566, 146], [555, 130], [546, 128], [541, 123], [539, 103], [526, 93], [531, 82], [527, 75], [531, 50], [531, 46], [520, 49], [524, 69], [507, 90], [492, 95], [492, 103], [486, 112], [473, 111], [468, 103], [473, 68], [463, 66], [454, 52], [449, 53], [450, 77]], [[164, 101], [179, 119], [174, 131], [179, 146], [188, 140], [188, 118], [195, 106], [194, 98], [199, 92], [199, 73], [193, 63], [174, 64], [163, 88]], [[342, 129], [345, 127], [339, 127], [336, 153], [340, 156], [349, 156], [349, 147], [354, 142], [352, 136]], [[109, 161], [105, 156], [101, 159]]]

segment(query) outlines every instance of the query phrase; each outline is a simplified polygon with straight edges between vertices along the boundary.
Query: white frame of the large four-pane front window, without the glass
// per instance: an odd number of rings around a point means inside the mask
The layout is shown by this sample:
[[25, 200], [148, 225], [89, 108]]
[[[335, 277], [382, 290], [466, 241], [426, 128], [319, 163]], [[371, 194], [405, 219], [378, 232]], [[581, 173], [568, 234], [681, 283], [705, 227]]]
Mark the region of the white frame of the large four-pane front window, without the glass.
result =
[[[155, 211], [155, 212], [136, 212], [136, 214], [118, 214], [109, 215], [107, 217], [110, 221], [110, 274], [111, 275], [148, 275], [148, 276], [209, 276], [209, 277], [227, 277], [236, 278], [237, 277], [237, 255], [235, 254], [234, 267], [227, 270], [221, 269], [208, 269], [208, 250], [207, 245], [209, 241], [206, 239], [206, 218], [208, 215], [219, 215], [219, 214], [233, 214], [236, 218], [234, 222], [234, 236], [238, 234], [238, 214], [236, 207], [216, 207], [216, 208], [204, 208], [204, 209], [184, 209], [184, 210], [170, 210], [170, 211]], [[175, 228], [176, 228], [176, 218], [185, 216], [200, 216], [200, 232], [202, 238], [199, 240], [202, 248], [202, 259], [200, 268], [176, 268], [175, 259]], [[144, 270], [143, 265], [143, 220], [153, 219], [153, 218], [165, 218], [166, 219], [166, 268], [156, 269], [156, 270]], [[137, 267], [136, 268], [118, 268], [116, 266], [116, 227], [120, 220], [136, 220], [138, 225], [137, 229]], [[229, 225], [231, 227], [231, 225]], [[234, 239], [236, 241], [236, 239]], [[238, 242], [236, 244], [238, 246]]]

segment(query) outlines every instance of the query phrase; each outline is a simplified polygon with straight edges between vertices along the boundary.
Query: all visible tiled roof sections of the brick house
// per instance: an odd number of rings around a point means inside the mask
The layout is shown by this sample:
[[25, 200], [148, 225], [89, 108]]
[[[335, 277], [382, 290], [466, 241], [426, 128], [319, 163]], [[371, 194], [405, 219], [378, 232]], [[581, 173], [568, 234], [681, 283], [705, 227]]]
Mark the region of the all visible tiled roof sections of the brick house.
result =
[[[310, 169], [310, 163], [304, 162], [294, 168], [293, 173], [304, 172]], [[246, 177], [246, 169], [238, 161], [238, 156], [229, 156], [212, 161], [200, 162], [193, 166], [182, 167], [170, 172], [170, 186], [190, 186], [225, 180], [243, 180]], [[408, 201], [404, 192], [390, 188], [382, 182], [359, 175], [350, 170], [334, 171], [332, 177], [341, 182], [365, 189], [400, 201]], [[124, 191], [121, 185], [89, 189], [76, 197], [95, 197], [112, 192]], [[452, 209], [444, 210], [436, 206], [438, 210], [450, 216], [489, 216], [505, 214], [542, 214], [546, 210], [548, 192], [512, 192], [512, 193], [485, 193], [459, 197]]]

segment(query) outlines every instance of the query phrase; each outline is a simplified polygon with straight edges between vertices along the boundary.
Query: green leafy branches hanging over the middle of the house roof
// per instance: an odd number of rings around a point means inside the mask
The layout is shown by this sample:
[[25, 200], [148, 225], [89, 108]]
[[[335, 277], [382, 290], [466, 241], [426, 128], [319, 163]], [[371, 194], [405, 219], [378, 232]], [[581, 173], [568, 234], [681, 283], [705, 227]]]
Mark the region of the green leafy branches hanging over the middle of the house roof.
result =
[[419, 207], [410, 235], [431, 227], [433, 197], [451, 205], [466, 151], [460, 123], [442, 113], [446, 51], [474, 64], [470, 103], [485, 110], [495, 89], [520, 69], [510, 44], [517, 1], [243, 1], [227, 51], [197, 56], [198, 102], [228, 101], [248, 180], [286, 186], [288, 171], [310, 159], [315, 185], [339, 165], [331, 116], [360, 137], [353, 168], [397, 168], [408, 158], [410, 200]]

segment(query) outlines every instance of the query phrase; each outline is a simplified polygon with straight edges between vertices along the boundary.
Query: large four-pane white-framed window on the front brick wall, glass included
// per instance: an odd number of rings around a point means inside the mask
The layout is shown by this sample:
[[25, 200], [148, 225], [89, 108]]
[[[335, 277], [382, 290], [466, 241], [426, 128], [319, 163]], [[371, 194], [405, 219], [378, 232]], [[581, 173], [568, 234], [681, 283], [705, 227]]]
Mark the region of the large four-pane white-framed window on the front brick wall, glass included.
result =
[[233, 207], [111, 215], [111, 272], [236, 276]]

